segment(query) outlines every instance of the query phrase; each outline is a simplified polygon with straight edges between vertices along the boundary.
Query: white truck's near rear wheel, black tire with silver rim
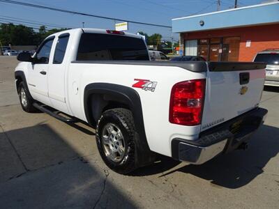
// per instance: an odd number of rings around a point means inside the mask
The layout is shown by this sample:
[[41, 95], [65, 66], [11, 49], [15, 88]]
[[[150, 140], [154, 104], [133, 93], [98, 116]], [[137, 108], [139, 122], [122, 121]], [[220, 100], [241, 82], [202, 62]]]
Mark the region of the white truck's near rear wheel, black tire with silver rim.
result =
[[130, 110], [105, 111], [98, 121], [96, 141], [100, 156], [110, 169], [126, 174], [135, 170], [135, 125]]

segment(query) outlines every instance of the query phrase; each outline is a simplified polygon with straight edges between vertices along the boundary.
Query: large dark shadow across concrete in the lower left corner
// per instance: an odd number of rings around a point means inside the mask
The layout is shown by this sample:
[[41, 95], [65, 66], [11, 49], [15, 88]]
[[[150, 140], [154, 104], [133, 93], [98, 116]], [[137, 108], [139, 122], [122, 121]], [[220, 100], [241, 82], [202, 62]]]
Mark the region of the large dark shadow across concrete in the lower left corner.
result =
[[47, 124], [0, 132], [0, 208], [136, 208], [69, 138]]

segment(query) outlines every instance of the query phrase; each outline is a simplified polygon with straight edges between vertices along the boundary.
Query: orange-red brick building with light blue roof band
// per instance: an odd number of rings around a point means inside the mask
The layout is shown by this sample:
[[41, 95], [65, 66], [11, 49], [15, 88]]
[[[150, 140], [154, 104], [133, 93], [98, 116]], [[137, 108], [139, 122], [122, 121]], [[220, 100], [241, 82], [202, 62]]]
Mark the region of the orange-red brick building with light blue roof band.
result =
[[252, 61], [257, 52], [279, 48], [279, 2], [179, 17], [180, 54], [209, 61]]

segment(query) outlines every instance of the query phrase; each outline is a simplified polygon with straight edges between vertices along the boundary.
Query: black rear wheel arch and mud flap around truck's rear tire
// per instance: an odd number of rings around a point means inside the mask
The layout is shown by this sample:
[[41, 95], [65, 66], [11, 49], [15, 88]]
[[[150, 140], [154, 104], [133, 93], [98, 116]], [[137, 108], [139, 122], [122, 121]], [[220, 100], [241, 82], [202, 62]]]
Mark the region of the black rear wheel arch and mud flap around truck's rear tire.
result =
[[139, 137], [137, 137], [139, 139], [136, 139], [136, 146], [139, 151], [137, 153], [137, 164], [139, 167], [150, 164], [153, 158], [146, 139], [142, 103], [137, 91], [127, 86], [108, 83], [88, 84], [84, 88], [84, 112], [87, 121], [93, 127], [96, 127], [98, 118], [103, 111], [119, 107], [130, 109], [133, 114], [135, 129], [139, 134]]

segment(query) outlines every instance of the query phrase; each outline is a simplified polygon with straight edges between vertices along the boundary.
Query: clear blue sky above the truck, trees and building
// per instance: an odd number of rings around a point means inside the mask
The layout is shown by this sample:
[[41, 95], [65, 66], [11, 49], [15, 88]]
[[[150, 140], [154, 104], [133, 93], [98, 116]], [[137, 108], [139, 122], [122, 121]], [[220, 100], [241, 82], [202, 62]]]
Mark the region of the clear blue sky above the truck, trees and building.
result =
[[[194, 14], [210, 13], [217, 10], [217, 0], [15, 0], [24, 3], [33, 3], [41, 6], [49, 6], [66, 10], [74, 10], [82, 13], [90, 13], [105, 17], [112, 17], [137, 22], [152, 24], [172, 25], [172, 18], [186, 17]], [[264, 0], [238, 0], [239, 6], [250, 6], [261, 3]], [[232, 8], [234, 0], [221, 0], [221, 10]], [[13, 20], [10, 20], [13, 18]], [[15, 19], [18, 21], [16, 22]], [[114, 20], [103, 20], [96, 17], [84, 17], [68, 13], [59, 13], [52, 10], [30, 8], [10, 3], [0, 2], [0, 22], [19, 21], [27, 26], [38, 28], [40, 23], [50, 24], [47, 29], [56, 25], [59, 27], [78, 28], [84, 27], [97, 29], [114, 29]], [[118, 22], [116, 22], [118, 23]], [[43, 24], [42, 24], [43, 25]], [[137, 33], [144, 31], [151, 35], [160, 33], [163, 40], [178, 40], [178, 34], [172, 33], [172, 29], [158, 26], [146, 26], [141, 24], [129, 24], [128, 32]]]

